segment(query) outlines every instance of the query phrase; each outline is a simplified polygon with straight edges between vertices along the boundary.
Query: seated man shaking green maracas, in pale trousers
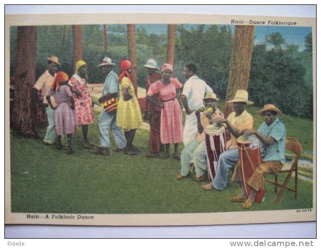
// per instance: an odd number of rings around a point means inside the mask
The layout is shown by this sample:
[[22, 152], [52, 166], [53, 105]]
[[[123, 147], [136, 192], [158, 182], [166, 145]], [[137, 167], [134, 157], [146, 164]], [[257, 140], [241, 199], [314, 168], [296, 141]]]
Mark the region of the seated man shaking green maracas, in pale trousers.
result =
[[213, 113], [205, 111], [200, 114], [199, 110], [195, 111], [198, 132], [196, 133], [195, 139], [191, 142], [188, 142], [180, 154], [181, 171], [180, 174], [176, 176], [178, 180], [189, 175], [190, 163], [192, 159], [194, 159], [195, 165], [195, 180], [203, 181], [206, 179], [205, 172], [207, 170], [207, 164], [205, 157], [206, 144], [204, 128], [209, 124], [213, 124], [213, 118], [224, 118], [224, 115], [218, 108], [216, 108], [216, 102], [218, 101], [218, 98], [213, 92], [207, 93], [203, 101], [206, 108], [213, 108]]

